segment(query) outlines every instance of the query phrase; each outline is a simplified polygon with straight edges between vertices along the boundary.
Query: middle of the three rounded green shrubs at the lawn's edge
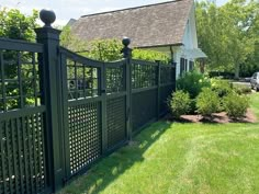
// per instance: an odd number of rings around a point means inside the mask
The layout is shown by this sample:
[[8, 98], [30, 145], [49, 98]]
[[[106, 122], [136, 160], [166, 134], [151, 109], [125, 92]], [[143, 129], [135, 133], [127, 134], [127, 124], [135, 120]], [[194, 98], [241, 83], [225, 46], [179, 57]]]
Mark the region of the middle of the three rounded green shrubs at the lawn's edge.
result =
[[217, 93], [210, 88], [203, 88], [196, 98], [196, 109], [204, 116], [218, 112], [221, 102]]

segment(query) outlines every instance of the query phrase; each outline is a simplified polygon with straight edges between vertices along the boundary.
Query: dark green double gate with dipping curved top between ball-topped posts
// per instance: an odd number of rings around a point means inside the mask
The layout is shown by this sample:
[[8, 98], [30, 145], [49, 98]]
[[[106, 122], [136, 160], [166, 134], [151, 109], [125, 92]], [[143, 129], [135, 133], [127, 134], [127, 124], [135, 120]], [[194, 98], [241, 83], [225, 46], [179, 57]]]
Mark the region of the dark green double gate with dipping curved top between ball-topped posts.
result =
[[125, 61], [101, 62], [60, 49], [66, 179], [126, 140]]

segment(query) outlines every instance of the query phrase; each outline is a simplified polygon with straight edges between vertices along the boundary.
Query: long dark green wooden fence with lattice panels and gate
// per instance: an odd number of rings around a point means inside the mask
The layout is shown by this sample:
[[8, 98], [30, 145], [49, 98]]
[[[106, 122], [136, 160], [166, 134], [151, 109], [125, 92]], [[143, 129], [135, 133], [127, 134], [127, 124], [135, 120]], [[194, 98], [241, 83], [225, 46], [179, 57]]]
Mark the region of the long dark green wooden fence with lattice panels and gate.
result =
[[35, 32], [0, 38], [0, 194], [59, 190], [167, 113], [174, 89], [174, 66], [95, 61]]

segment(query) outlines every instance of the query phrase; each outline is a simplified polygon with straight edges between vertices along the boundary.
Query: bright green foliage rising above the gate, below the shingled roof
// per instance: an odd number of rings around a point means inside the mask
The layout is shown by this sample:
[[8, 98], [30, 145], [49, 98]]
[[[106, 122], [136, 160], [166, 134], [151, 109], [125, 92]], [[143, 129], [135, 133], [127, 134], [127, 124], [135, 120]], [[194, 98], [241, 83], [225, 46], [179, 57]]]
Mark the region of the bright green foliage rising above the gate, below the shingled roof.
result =
[[[94, 39], [87, 43], [72, 35], [70, 27], [67, 26], [63, 28], [60, 44], [72, 52], [95, 60], [115, 61], [123, 58], [121, 53], [123, 44], [121, 39]], [[166, 54], [156, 50], [133, 49], [132, 58], [148, 61], [160, 60], [164, 64], [170, 61]]]

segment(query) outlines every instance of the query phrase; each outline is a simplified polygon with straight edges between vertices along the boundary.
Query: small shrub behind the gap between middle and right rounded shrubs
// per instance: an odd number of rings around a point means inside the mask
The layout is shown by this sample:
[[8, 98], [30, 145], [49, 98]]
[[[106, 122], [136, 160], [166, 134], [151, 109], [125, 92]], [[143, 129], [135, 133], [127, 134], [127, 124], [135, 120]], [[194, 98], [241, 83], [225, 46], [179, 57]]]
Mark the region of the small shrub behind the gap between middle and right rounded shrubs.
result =
[[230, 82], [221, 79], [211, 79], [212, 90], [215, 91], [219, 98], [226, 96], [233, 91]]

